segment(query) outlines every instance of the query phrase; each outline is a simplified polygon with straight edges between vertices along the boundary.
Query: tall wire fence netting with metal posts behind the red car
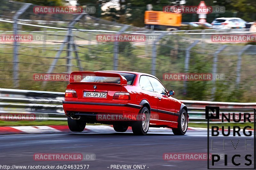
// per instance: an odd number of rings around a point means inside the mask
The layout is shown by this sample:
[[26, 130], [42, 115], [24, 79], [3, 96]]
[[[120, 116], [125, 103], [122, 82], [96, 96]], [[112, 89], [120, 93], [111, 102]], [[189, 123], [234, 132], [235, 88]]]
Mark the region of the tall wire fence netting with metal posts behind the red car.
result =
[[[256, 46], [211, 42], [208, 33], [221, 30], [157, 32], [86, 13], [36, 14], [35, 6], [0, 2], [0, 36], [33, 37], [32, 41], [0, 41], [1, 88], [63, 92], [68, 81], [38, 81], [35, 75], [126, 70], [154, 74], [180, 99], [256, 101]], [[144, 36], [145, 41], [112, 42], [97, 38], [107, 34], [136, 34]], [[165, 77], [166, 73], [213, 76], [211, 81], [177, 81]]]

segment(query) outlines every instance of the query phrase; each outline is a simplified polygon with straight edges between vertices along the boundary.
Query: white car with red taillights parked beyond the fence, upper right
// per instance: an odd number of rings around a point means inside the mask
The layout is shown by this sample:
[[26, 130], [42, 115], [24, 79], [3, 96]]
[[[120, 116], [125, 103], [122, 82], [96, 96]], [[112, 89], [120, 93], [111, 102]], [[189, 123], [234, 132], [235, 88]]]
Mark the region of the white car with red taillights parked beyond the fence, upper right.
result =
[[246, 21], [241, 18], [216, 18], [212, 21], [213, 29], [245, 28]]

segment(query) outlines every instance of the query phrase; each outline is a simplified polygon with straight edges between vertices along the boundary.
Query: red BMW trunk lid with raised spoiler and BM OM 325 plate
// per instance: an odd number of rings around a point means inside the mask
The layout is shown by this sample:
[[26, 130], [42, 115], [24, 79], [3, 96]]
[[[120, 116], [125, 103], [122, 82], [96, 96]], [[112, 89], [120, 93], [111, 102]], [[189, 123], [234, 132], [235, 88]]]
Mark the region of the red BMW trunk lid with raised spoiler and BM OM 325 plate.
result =
[[120, 74], [104, 72], [72, 72], [69, 81], [77, 99], [85, 101], [113, 100], [114, 94], [127, 84]]

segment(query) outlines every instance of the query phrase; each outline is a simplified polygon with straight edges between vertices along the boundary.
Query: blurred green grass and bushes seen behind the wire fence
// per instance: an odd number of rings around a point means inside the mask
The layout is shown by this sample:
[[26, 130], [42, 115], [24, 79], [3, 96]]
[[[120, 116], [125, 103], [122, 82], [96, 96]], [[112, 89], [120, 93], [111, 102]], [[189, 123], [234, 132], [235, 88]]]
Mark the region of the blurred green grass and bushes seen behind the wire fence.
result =
[[[33, 33], [33, 35], [36, 33]], [[52, 34], [52, 33], [49, 33]], [[58, 33], [65, 35], [64, 32]], [[96, 35], [77, 32], [74, 33], [85, 39], [91, 39], [92, 43], [96, 42]], [[98, 34], [98, 33], [93, 33]], [[91, 38], [89, 38], [89, 35]], [[47, 41], [55, 40], [55, 35], [47, 36]], [[58, 38], [64, 38], [60, 36]], [[212, 100], [211, 92], [213, 88], [212, 81], [188, 81], [187, 94], [184, 92], [184, 81], [165, 81], [164, 73], [183, 73], [185, 51], [191, 42], [183, 40], [182, 35], [175, 35], [169, 40], [163, 40], [161, 45], [157, 46], [156, 57], [156, 77], [162, 81], [168, 90], [175, 91], [175, 98], [183, 100]], [[60, 40], [58, 39], [58, 40]], [[78, 41], [82, 39], [76, 38]], [[87, 42], [86, 42], [87, 43]], [[7, 44], [7, 45], [3, 45]], [[1, 44], [0, 48], [0, 76], [4, 81], [0, 81], [2, 88], [16, 88], [13, 83], [13, 46], [11, 43]], [[85, 71], [96, 70], [113, 70], [114, 46], [113, 42], [104, 42], [102, 44], [86, 45], [78, 48], [78, 55], [81, 66]], [[54, 57], [57, 54], [60, 43], [53, 44], [53, 47], [43, 47], [43, 44], [21, 43], [19, 48], [19, 89], [25, 90], [42, 90], [64, 92], [68, 82], [40, 82], [34, 81], [34, 73], [45, 73], [50, 68]], [[152, 45], [141, 45], [141, 43], [120, 42], [118, 55], [118, 70], [138, 71], [151, 73], [152, 68]], [[26, 46], [26, 47], [22, 47]], [[27, 48], [35, 46], [35, 48]], [[198, 44], [192, 48], [189, 64], [189, 72], [191, 73], [211, 73], [213, 53], [219, 46], [205, 44], [202, 51], [201, 45]], [[175, 50], [178, 48], [178, 50]], [[67, 47], [64, 48], [67, 50]], [[256, 86], [255, 75], [253, 72], [256, 65], [253, 55], [242, 56], [242, 73], [241, 87], [237, 90], [236, 82], [236, 60], [237, 55], [229, 53], [232, 49], [224, 50], [218, 56], [218, 72], [225, 73], [225, 81], [216, 81], [216, 93], [213, 100], [230, 101], [230, 102], [255, 102]], [[25, 54], [25, 55], [24, 55]], [[33, 55], [33, 56], [28, 56]], [[74, 53], [72, 53], [74, 57]], [[67, 72], [67, 51], [62, 51], [60, 58], [53, 70], [54, 73]], [[78, 71], [75, 59], [72, 59], [72, 71]]]

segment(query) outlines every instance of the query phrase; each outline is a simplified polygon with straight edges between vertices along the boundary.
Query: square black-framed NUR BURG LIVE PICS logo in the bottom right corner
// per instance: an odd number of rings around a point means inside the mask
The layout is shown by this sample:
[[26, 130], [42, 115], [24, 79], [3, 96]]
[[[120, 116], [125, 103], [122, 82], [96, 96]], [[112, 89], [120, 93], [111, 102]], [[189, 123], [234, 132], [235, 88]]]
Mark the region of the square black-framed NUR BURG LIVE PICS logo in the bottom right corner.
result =
[[208, 169], [256, 168], [255, 109], [206, 106], [205, 119]]

